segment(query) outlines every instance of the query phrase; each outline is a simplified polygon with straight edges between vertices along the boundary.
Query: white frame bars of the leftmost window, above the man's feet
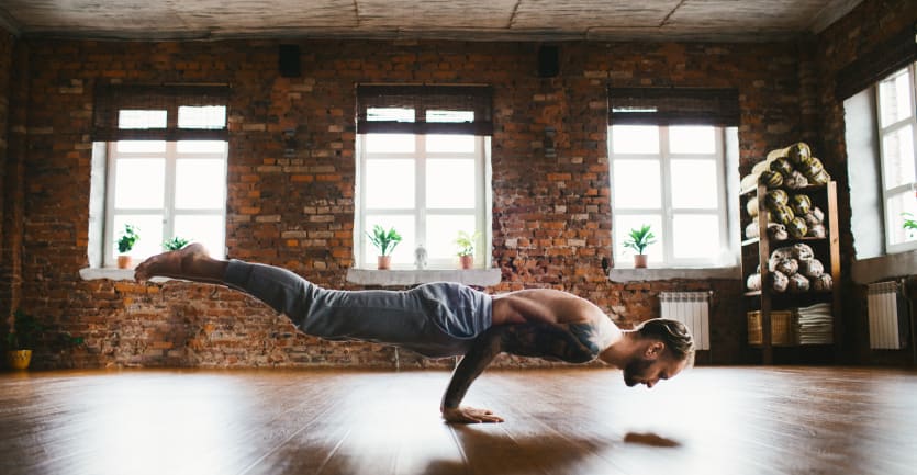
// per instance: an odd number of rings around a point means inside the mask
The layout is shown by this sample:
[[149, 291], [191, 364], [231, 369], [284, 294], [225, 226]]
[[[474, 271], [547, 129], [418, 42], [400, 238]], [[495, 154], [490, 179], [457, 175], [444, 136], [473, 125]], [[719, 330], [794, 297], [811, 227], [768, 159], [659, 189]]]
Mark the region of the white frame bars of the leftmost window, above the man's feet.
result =
[[[161, 140], [159, 140], [161, 142]], [[212, 216], [220, 216], [223, 223], [226, 222], [226, 180], [224, 177], [223, 182], [223, 206], [220, 208], [193, 208], [193, 210], [179, 210], [175, 206], [175, 195], [176, 195], [176, 163], [177, 160], [181, 159], [189, 159], [189, 158], [208, 158], [208, 159], [222, 159], [224, 162], [224, 171], [228, 169], [228, 143], [225, 140], [212, 140], [212, 142], [222, 142], [223, 143], [223, 150], [220, 154], [213, 152], [178, 152], [178, 142], [165, 142], [166, 150], [165, 152], [156, 151], [156, 152], [136, 152], [136, 151], [119, 151], [118, 150], [118, 142], [109, 142], [107, 143], [107, 150], [105, 150], [105, 170], [107, 170], [107, 186], [105, 186], [105, 223], [104, 223], [104, 252], [103, 252], [103, 265], [104, 267], [113, 267], [115, 265], [114, 262], [114, 250], [116, 249], [115, 241], [118, 237], [114, 233], [112, 233], [112, 228], [114, 226], [114, 219], [116, 215], [163, 215], [163, 236], [158, 238], [158, 242], [163, 242], [166, 239], [171, 238], [175, 236], [175, 218], [181, 215], [212, 215]], [[131, 160], [131, 159], [143, 159], [143, 158], [164, 158], [165, 159], [165, 190], [164, 190], [164, 203], [163, 207], [158, 208], [116, 208], [114, 203], [114, 191], [116, 190], [116, 177], [118, 177], [118, 163], [120, 160]], [[118, 231], [115, 229], [115, 231]], [[225, 226], [223, 228], [223, 247], [221, 249], [208, 249], [213, 256], [224, 257], [225, 256], [225, 242], [226, 242], [226, 235], [225, 235]], [[141, 230], [141, 235], [144, 239], [150, 239], [155, 237], [144, 235], [143, 230]], [[145, 256], [135, 256], [136, 258], [144, 258]]]

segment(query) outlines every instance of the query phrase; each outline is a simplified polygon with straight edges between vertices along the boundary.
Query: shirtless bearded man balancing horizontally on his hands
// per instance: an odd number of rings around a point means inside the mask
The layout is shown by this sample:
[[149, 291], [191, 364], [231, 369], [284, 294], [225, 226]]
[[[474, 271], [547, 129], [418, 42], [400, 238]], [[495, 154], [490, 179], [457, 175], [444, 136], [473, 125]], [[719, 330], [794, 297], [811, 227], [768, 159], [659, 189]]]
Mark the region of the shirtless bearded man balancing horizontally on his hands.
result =
[[138, 282], [154, 276], [241, 290], [320, 338], [394, 344], [430, 358], [463, 355], [443, 396], [447, 422], [503, 421], [490, 410], [460, 405], [501, 352], [570, 363], [599, 359], [624, 370], [628, 386], [647, 387], [694, 361], [694, 341], [682, 324], [657, 318], [620, 330], [594, 304], [555, 290], [492, 296], [445, 282], [404, 292], [326, 290], [280, 268], [213, 259], [199, 244], [137, 267]]

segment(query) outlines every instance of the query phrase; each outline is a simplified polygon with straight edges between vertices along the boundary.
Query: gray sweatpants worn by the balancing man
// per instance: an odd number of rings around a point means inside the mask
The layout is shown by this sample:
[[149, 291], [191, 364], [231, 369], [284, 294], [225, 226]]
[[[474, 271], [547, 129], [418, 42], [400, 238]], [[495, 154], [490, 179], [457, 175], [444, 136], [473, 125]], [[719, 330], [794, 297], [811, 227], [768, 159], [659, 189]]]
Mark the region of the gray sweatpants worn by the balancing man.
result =
[[271, 265], [231, 260], [223, 281], [286, 314], [303, 332], [456, 357], [491, 326], [492, 298], [467, 285], [437, 282], [404, 292], [335, 291]]

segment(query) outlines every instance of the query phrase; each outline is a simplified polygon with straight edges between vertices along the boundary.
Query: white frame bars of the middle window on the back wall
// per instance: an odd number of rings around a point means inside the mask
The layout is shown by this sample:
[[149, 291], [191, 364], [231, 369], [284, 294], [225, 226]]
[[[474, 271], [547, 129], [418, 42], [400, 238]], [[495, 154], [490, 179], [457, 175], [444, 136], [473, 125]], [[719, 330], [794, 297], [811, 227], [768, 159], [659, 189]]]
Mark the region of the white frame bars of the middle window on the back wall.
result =
[[[376, 256], [366, 256], [364, 249], [367, 241], [367, 217], [371, 215], [403, 215], [414, 216], [415, 242], [426, 244], [426, 215], [435, 212], [437, 215], [471, 215], [470, 208], [428, 208], [426, 206], [426, 162], [440, 158], [472, 158], [474, 160], [474, 224], [481, 234], [478, 245], [474, 247], [474, 269], [485, 268], [491, 256], [491, 226], [490, 226], [490, 137], [474, 135], [473, 152], [428, 152], [426, 151], [425, 134], [407, 134], [414, 136], [413, 152], [374, 152], [371, 156], [367, 151], [366, 139], [368, 134], [357, 135], [357, 192], [356, 205], [357, 216], [355, 218], [354, 256], [358, 269], [376, 269]], [[362, 191], [366, 190], [367, 159], [403, 159], [414, 161], [414, 207], [413, 208], [372, 208], [367, 210]], [[411, 250], [413, 255], [413, 249]], [[427, 261], [428, 269], [455, 269], [456, 259], [430, 259]], [[414, 269], [414, 263], [392, 263], [392, 269]]]

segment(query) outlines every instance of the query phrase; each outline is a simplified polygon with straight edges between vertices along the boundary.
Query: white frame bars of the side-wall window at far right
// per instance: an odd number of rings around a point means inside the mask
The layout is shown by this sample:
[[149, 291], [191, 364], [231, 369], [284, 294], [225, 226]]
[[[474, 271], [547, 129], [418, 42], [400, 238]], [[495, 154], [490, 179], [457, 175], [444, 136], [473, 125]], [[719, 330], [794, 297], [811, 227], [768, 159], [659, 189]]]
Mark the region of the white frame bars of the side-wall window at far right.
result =
[[[880, 84], [887, 79], [895, 77], [901, 73], [902, 70], [906, 70], [907, 75], [910, 79], [910, 88], [908, 88], [908, 92], [910, 93], [909, 102], [910, 114], [902, 118], [897, 122], [892, 124], [887, 124], [886, 126], [882, 126], [882, 88]], [[901, 216], [890, 216], [890, 206], [888, 202], [896, 196], [899, 196], [904, 193], [917, 193], [917, 181], [910, 183], [903, 183], [897, 186], [890, 188], [887, 182], [887, 174], [885, 170], [885, 137], [891, 135], [904, 127], [910, 126], [912, 132], [912, 144], [914, 146], [915, 154], [917, 154], [917, 110], [915, 110], [915, 104], [917, 104], [917, 63], [912, 63], [906, 68], [899, 69], [892, 75], [888, 75], [886, 78], [882, 79], [875, 84], [875, 127], [879, 133], [879, 167], [881, 170], [882, 176], [882, 204], [883, 204], [883, 216], [885, 223], [885, 252], [887, 253], [898, 253], [905, 252], [917, 249], [917, 240], [907, 240], [904, 242], [892, 242], [892, 233], [891, 229], [897, 229], [901, 227]], [[917, 167], [917, 157], [914, 157], [914, 165]]]

